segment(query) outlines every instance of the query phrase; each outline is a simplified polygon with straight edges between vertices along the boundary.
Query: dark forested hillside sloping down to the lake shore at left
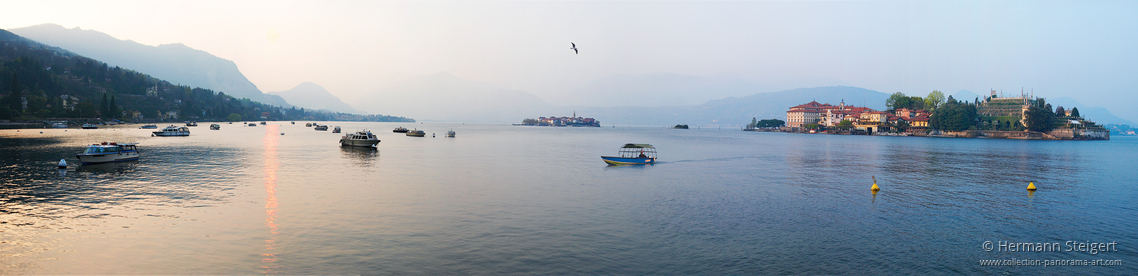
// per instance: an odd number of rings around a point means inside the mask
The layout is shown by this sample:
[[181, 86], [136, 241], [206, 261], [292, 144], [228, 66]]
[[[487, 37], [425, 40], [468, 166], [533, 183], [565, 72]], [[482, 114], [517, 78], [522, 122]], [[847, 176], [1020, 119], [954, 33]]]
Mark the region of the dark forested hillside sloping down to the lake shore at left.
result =
[[0, 30], [0, 119], [413, 122], [281, 108], [171, 84]]

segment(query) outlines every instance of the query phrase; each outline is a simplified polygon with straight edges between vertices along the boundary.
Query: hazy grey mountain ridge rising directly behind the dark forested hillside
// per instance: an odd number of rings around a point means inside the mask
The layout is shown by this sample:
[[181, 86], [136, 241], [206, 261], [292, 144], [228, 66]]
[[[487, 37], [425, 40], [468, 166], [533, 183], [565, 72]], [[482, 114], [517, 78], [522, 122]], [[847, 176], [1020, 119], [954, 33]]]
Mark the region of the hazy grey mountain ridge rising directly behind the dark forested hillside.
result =
[[174, 84], [209, 89], [272, 106], [291, 107], [284, 99], [257, 90], [233, 61], [181, 43], [150, 47], [92, 30], [64, 28], [56, 24], [9, 31], [43, 44], [101, 60], [109, 66], [141, 72]]

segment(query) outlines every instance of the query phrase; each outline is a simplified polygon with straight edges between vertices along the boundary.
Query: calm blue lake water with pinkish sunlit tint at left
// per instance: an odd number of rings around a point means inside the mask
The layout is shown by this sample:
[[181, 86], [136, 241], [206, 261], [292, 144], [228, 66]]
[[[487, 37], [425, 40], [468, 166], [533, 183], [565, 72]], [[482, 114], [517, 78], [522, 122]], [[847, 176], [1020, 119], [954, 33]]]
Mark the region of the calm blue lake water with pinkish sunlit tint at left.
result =
[[[188, 137], [0, 129], [0, 274], [1138, 271], [1133, 137], [329, 123], [382, 140], [360, 150], [302, 122], [200, 125]], [[142, 158], [76, 166], [102, 141], [139, 143]], [[660, 162], [601, 161], [624, 143], [655, 145]], [[980, 265], [1013, 258], [1122, 265]]]

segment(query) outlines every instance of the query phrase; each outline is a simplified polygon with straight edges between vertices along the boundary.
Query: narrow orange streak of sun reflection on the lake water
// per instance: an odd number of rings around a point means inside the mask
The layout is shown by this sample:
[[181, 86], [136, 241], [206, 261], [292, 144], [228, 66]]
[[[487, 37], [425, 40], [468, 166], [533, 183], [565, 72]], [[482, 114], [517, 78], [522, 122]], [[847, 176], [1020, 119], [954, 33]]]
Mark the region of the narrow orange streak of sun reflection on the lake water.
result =
[[270, 237], [265, 240], [265, 252], [261, 256], [261, 262], [263, 264], [261, 268], [264, 269], [264, 274], [277, 274], [279, 265], [277, 265], [277, 210], [280, 204], [277, 202], [277, 169], [280, 168], [280, 162], [277, 159], [277, 147], [279, 145], [277, 125], [265, 126], [265, 137], [262, 140], [265, 148], [265, 226], [269, 227]]

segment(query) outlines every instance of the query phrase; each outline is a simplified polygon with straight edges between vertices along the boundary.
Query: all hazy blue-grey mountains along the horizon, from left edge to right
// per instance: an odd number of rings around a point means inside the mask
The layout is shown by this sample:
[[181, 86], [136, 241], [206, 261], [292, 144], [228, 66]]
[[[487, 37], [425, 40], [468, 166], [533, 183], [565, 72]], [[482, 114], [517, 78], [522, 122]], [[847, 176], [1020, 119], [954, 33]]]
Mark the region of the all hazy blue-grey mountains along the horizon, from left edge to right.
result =
[[[426, 120], [520, 123], [541, 116], [592, 117], [603, 125], [688, 124], [694, 126], [741, 126], [754, 118], [785, 119], [787, 108], [809, 101], [884, 109], [889, 94], [852, 86], [823, 86], [768, 91], [729, 75], [683, 74], [611, 75], [571, 89], [546, 102], [531, 93], [462, 80], [447, 73], [409, 76], [386, 82], [348, 102], [314, 83], [262, 93], [238, 70], [233, 61], [183, 44], [143, 45], [80, 28], [44, 24], [11, 30], [51, 47], [104, 60], [172, 83], [200, 86], [237, 98], [273, 106], [298, 107], [358, 114], [387, 114]], [[59, 49], [59, 50], [61, 50]], [[958, 100], [976, 93], [962, 90]], [[1053, 106], [1079, 107], [1080, 112], [1102, 124], [1133, 124], [1100, 107], [1086, 107], [1070, 98], [1049, 99]]]

